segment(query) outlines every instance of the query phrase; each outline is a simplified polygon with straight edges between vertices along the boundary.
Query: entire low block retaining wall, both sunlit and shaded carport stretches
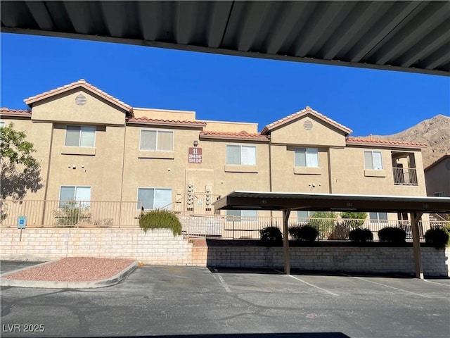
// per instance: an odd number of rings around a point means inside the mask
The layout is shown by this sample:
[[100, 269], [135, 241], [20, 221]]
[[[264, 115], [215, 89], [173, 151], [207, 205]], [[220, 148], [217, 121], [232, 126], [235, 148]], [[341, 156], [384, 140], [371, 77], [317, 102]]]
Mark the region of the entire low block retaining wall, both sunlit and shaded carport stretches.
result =
[[[133, 258], [146, 264], [283, 268], [283, 248], [210, 246], [205, 239], [174, 237], [170, 230], [2, 228], [0, 258], [50, 261], [63, 257]], [[422, 248], [427, 275], [450, 277], [450, 248]], [[411, 247], [291, 247], [290, 265], [304, 270], [414, 273]]]

